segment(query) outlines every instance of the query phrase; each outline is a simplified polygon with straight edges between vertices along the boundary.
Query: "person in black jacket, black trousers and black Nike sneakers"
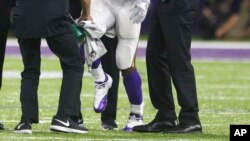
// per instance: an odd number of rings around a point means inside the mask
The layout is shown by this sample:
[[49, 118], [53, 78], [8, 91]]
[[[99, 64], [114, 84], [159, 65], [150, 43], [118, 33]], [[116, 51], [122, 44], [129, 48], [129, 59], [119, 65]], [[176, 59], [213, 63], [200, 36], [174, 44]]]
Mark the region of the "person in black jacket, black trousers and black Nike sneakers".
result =
[[[23, 58], [21, 73], [22, 116], [16, 133], [32, 133], [32, 123], [38, 123], [38, 84], [40, 76], [40, 44], [44, 37], [49, 48], [59, 58], [63, 71], [57, 114], [51, 130], [87, 133], [88, 130], [72, 120], [79, 117], [82, 86], [82, 60], [79, 48], [66, 20], [68, 0], [16, 0], [13, 20]], [[90, 18], [89, 0], [82, 0], [82, 17]]]

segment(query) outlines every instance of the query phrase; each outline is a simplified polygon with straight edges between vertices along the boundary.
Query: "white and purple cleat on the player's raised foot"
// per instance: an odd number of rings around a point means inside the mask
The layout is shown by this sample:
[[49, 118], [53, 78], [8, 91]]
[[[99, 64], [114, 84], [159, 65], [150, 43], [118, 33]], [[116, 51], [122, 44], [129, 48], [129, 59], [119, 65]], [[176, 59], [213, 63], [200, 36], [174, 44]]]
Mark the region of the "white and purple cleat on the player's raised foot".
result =
[[107, 94], [113, 80], [108, 74], [105, 75], [104, 82], [95, 82], [94, 110], [96, 113], [104, 111], [108, 104]]

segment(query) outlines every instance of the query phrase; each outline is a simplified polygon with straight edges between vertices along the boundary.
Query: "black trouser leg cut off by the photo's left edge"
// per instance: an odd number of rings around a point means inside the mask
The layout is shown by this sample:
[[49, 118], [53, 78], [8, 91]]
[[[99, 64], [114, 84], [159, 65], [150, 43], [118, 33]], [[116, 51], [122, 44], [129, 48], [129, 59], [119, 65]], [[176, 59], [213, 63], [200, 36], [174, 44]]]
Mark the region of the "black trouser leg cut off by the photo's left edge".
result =
[[9, 30], [11, 0], [0, 1], [0, 89], [2, 87], [2, 73]]

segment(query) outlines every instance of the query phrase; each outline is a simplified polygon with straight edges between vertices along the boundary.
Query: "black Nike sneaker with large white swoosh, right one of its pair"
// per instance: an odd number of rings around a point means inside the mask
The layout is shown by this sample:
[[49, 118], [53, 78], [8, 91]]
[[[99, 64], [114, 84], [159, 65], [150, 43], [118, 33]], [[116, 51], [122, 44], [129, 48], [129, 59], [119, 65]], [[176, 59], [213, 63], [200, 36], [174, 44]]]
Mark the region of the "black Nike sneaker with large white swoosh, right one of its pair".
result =
[[66, 133], [88, 133], [87, 128], [79, 126], [78, 123], [72, 121], [70, 118], [63, 119], [58, 117], [53, 117], [50, 130]]

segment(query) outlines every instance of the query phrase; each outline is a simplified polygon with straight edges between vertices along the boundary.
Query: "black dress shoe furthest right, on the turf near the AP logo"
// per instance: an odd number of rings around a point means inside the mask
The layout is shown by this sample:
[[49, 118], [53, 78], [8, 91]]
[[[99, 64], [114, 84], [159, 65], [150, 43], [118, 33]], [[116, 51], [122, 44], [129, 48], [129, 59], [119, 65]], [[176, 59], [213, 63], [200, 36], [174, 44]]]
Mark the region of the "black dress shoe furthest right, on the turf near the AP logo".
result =
[[173, 128], [168, 128], [163, 133], [202, 133], [202, 127], [200, 124], [179, 124]]

